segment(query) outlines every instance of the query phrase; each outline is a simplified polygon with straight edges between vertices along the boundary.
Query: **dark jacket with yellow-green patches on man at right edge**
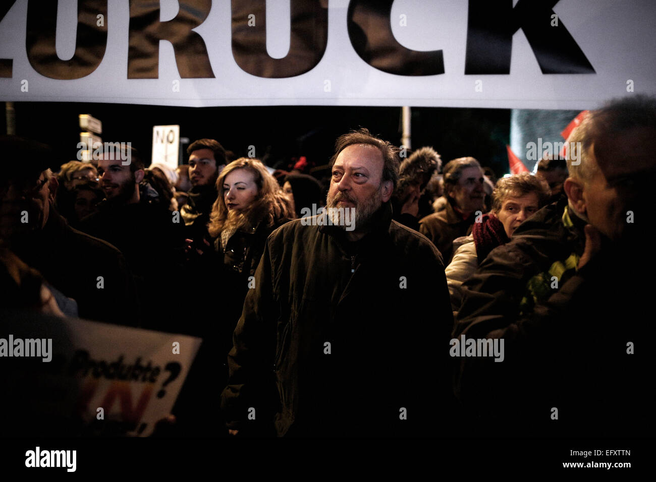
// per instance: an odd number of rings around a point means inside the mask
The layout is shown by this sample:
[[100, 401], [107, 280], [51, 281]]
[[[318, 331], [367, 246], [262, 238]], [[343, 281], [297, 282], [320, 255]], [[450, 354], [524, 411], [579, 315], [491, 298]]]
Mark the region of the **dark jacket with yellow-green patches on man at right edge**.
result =
[[627, 344], [646, 349], [653, 340], [646, 319], [653, 288], [630, 280], [636, 269], [651, 272], [654, 262], [636, 256], [636, 245], [604, 239], [602, 251], [578, 270], [583, 226], [566, 199], [548, 205], [464, 284], [454, 338], [503, 339], [505, 351], [501, 363], [453, 359], [455, 390], [474, 425], [514, 435], [653, 430], [653, 363], [647, 350], [628, 353]]

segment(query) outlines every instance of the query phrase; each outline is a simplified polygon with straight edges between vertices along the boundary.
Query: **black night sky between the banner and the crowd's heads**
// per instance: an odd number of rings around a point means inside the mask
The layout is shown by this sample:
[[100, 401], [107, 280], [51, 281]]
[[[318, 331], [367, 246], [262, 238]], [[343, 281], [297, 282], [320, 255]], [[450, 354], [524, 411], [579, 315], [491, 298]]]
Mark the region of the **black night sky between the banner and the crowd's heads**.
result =
[[[132, 142], [150, 162], [154, 125], [180, 125], [180, 137], [190, 141], [215, 138], [237, 155], [254, 145], [256, 157], [274, 165], [281, 159], [304, 155], [324, 165], [335, 139], [349, 129], [367, 127], [374, 134], [400, 144], [398, 107], [213, 107], [185, 108], [135, 104], [76, 102], [14, 102], [16, 134], [51, 144], [62, 163], [75, 159], [79, 142], [78, 115], [102, 121], [103, 141]], [[0, 129], [6, 131], [5, 115]], [[510, 110], [413, 108], [413, 148], [432, 146], [443, 163], [471, 155], [497, 176], [508, 172], [506, 144], [510, 142]], [[186, 162], [186, 155], [184, 162]]]

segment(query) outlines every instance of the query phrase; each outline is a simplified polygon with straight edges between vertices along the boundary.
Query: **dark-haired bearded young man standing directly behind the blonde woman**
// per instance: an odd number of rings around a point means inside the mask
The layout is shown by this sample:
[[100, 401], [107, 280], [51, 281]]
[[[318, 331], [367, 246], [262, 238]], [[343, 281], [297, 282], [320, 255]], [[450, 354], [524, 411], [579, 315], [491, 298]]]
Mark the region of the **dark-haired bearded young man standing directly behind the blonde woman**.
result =
[[200, 242], [207, 231], [209, 214], [216, 201], [216, 179], [226, 167], [226, 151], [214, 139], [199, 139], [187, 148], [189, 154], [189, 180], [187, 202], [180, 209], [186, 236]]

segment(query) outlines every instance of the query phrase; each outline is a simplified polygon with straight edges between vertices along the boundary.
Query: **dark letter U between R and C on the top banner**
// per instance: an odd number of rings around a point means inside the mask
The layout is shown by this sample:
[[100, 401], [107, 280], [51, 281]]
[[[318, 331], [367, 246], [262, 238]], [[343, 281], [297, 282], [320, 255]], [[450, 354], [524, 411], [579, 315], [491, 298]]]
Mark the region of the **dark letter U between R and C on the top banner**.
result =
[[[232, 56], [241, 70], [269, 79], [294, 77], [314, 69], [328, 43], [328, 9], [321, 0], [290, 0], [289, 52], [272, 58], [266, 51], [266, 1], [232, 0]], [[255, 25], [249, 26], [249, 15]], [[252, 18], [252, 17], [251, 17]]]

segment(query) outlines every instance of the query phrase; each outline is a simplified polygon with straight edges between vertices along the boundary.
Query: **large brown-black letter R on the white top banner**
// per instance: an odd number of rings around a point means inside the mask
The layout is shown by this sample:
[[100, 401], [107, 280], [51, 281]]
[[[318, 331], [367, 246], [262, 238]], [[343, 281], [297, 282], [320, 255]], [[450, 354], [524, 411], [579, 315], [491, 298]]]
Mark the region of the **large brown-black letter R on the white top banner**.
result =
[[128, 79], [159, 78], [159, 41], [173, 45], [182, 79], [213, 79], [205, 41], [196, 28], [209, 15], [211, 0], [179, 0], [180, 10], [172, 20], [159, 20], [159, 1], [130, 0], [130, 34], [127, 56]]

